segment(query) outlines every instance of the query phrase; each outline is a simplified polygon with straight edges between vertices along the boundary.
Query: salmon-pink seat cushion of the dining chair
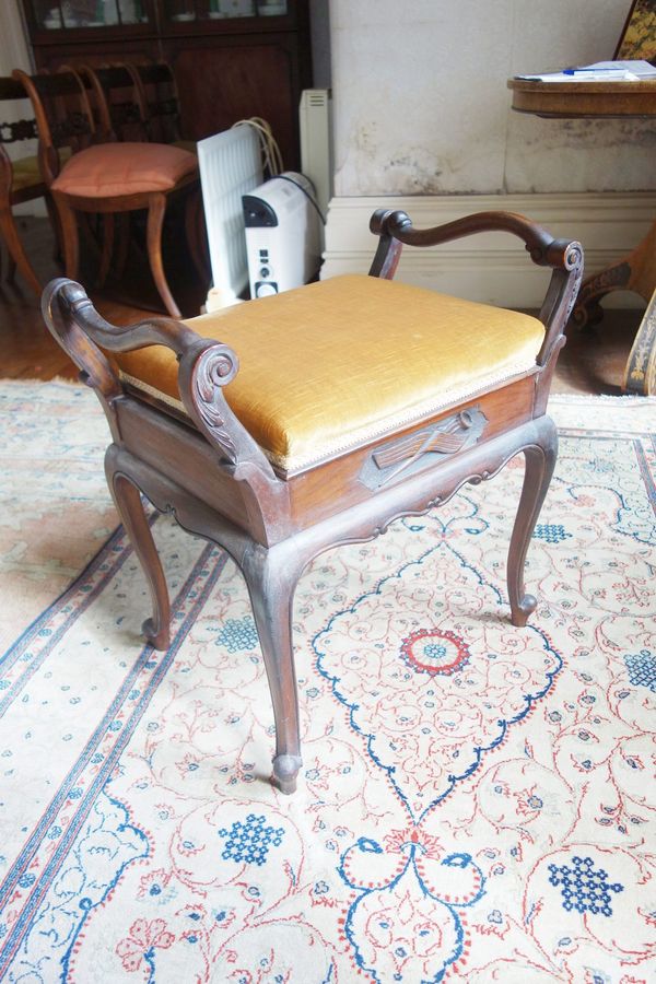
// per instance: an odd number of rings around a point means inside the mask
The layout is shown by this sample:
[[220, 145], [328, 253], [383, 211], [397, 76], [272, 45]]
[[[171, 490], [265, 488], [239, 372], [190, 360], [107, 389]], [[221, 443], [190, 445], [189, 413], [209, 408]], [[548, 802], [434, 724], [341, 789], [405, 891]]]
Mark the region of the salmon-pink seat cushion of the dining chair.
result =
[[52, 190], [85, 198], [168, 191], [197, 167], [194, 154], [167, 143], [98, 143], [67, 161]]

